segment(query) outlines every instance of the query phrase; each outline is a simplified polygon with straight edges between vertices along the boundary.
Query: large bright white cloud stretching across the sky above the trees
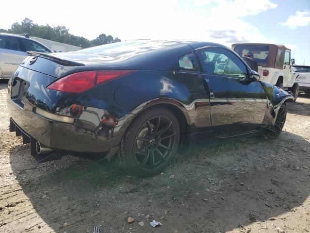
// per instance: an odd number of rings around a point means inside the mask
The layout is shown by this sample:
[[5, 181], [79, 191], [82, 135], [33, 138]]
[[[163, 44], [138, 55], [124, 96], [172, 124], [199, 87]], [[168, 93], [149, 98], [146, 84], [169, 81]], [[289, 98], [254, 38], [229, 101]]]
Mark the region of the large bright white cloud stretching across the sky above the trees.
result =
[[13, 8], [13, 4], [20, 7], [15, 8], [15, 14], [1, 13], [0, 28], [9, 28], [29, 17], [38, 24], [64, 25], [70, 33], [88, 39], [106, 33], [122, 40], [198, 40], [227, 46], [241, 41], [270, 42], [243, 17], [277, 7], [270, 0], [187, 0], [186, 5], [180, 0], [88, 0], [87, 4], [54, 0], [48, 11], [31, 9], [42, 4], [39, 0], [32, 0], [31, 5], [22, 0], [6, 4], [7, 9]]

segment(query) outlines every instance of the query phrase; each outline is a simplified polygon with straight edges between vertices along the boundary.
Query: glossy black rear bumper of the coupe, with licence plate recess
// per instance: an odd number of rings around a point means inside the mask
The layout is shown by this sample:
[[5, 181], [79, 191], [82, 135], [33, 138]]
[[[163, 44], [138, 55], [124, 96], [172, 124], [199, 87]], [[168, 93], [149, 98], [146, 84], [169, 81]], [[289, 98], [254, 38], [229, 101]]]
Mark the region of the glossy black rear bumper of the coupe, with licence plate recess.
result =
[[55, 80], [17, 68], [7, 93], [12, 130], [65, 154], [99, 156], [117, 148], [134, 115], [105, 109], [109, 101], [98, 99], [98, 93], [84, 96], [47, 89]]

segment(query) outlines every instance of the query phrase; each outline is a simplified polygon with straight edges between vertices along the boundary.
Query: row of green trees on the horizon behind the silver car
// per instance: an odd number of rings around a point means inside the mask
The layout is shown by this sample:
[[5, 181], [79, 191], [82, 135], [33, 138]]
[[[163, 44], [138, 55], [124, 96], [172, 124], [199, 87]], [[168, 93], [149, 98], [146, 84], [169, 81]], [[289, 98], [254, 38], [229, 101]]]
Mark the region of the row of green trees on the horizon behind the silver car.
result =
[[121, 40], [116, 37], [115, 39], [111, 35], [104, 33], [97, 36], [93, 40], [89, 40], [82, 36], [76, 36], [69, 33], [69, 29], [65, 26], [51, 27], [50, 25], [38, 25], [33, 23], [29, 18], [25, 18], [21, 24], [14, 23], [11, 29], [5, 30], [0, 29], [1, 33], [13, 33], [13, 34], [24, 34], [28, 33], [30, 36], [36, 36], [47, 40], [58, 41], [61, 43], [75, 45], [82, 48], [88, 48], [98, 45], [104, 45], [114, 42], [120, 42]]

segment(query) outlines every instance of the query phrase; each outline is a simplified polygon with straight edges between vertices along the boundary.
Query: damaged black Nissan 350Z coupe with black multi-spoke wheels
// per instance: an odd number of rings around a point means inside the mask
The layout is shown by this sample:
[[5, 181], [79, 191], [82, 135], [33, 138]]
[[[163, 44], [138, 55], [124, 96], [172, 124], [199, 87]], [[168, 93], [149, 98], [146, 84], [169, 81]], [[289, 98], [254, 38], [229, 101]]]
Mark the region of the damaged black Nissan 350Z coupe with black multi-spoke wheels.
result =
[[28, 52], [8, 83], [10, 131], [38, 162], [70, 154], [152, 176], [191, 136], [281, 132], [293, 97], [215, 43], [135, 40]]

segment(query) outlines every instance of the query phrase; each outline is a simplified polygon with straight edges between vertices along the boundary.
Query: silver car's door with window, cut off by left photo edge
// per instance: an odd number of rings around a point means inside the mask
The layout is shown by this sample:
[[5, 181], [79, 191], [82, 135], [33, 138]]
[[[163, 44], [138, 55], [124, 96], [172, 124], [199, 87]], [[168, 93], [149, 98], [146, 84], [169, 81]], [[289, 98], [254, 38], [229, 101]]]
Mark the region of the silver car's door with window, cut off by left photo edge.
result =
[[17, 37], [0, 35], [0, 68], [4, 75], [12, 75], [26, 56]]

